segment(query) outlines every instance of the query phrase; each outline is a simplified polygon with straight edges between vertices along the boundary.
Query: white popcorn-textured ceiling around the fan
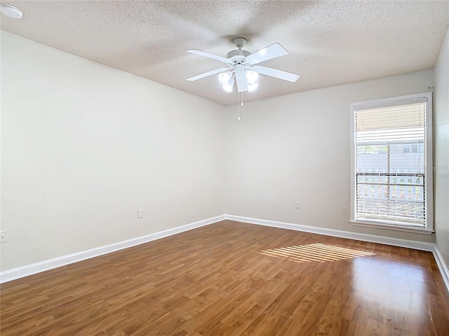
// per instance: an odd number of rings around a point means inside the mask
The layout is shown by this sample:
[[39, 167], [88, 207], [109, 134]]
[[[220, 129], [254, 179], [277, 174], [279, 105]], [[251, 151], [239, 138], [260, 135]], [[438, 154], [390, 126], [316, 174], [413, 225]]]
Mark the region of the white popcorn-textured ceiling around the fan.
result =
[[[22, 20], [1, 29], [175, 87], [236, 104], [217, 76], [232, 41], [255, 52], [278, 42], [289, 52], [261, 65], [299, 73], [296, 83], [261, 76], [245, 100], [434, 67], [449, 26], [449, 1], [7, 1]], [[88, 80], [88, 78], [86, 78]]]

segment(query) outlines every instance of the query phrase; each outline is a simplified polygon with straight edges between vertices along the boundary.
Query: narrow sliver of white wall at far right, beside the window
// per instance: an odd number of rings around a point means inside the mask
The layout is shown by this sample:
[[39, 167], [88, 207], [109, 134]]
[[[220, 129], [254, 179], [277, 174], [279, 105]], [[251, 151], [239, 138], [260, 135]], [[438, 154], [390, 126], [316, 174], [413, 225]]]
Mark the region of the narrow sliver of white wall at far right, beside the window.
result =
[[449, 267], [449, 29], [435, 66], [434, 110], [436, 246]]

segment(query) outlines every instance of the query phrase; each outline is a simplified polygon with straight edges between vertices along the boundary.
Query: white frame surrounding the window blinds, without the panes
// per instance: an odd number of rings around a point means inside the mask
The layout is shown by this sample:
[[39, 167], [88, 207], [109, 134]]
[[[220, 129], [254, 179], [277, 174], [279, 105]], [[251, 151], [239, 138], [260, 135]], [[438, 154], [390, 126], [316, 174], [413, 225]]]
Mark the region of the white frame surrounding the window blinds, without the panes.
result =
[[[359, 109], [375, 109], [379, 107], [395, 106], [401, 104], [410, 104], [417, 99], [427, 99], [426, 103], [426, 193], [425, 193], [425, 216], [426, 225], [424, 228], [417, 228], [413, 225], [401, 225], [393, 223], [382, 223], [382, 221], [356, 221], [356, 113]], [[398, 97], [389, 97], [382, 99], [368, 100], [364, 102], [353, 102], [350, 107], [350, 157], [351, 157], [351, 207], [349, 223], [356, 226], [364, 226], [369, 228], [382, 228], [387, 230], [396, 230], [404, 232], [421, 233], [431, 235], [434, 232], [434, 165], [433, 165], [433, 132], [432, 132], [432, 115], [433, 102], [432, 92], [422, 92], [417, 94], [407, 94]]]

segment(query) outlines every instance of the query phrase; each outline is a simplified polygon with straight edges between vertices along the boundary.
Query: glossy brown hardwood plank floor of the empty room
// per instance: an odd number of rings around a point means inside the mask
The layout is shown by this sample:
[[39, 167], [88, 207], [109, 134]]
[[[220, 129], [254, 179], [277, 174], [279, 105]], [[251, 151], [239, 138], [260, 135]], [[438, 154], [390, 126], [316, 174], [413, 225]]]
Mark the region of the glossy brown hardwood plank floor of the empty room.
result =
[[1, 285], [2, 336], [449, 335], [433, 255], [222, 221]]

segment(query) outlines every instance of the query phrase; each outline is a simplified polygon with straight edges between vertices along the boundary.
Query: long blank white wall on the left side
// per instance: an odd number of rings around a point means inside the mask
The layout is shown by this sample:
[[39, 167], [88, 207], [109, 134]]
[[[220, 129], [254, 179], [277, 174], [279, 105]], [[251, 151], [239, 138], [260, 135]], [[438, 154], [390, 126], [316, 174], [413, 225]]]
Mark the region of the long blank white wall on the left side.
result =
[[1, 31], [1, 269], [224, 214], [222, 116]]

